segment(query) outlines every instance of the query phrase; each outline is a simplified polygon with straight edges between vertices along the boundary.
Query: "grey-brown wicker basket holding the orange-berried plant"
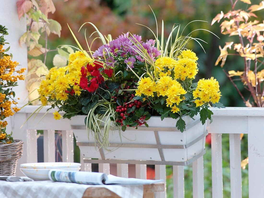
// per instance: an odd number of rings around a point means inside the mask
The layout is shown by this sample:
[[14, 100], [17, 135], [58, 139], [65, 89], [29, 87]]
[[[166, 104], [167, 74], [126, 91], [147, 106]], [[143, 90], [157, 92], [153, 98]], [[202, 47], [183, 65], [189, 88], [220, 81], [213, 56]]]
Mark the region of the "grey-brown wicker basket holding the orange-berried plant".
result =
[[15, 140], [11, 144], [0, 144], [0, 175], [15, 175], [17, 160], [22, 156], [22, 151], [22, 140]]

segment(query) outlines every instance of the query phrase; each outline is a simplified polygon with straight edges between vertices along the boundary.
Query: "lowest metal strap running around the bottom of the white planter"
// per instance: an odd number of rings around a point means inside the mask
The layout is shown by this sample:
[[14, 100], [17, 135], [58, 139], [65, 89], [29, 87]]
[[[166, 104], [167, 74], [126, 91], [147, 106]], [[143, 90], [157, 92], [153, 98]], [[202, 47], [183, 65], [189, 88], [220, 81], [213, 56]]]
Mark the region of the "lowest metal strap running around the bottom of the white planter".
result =
[[151, 160], [89, 160], [89, 158], [83, 158], [84, 163], [117, 163], [117, 164], [148, 164], [148, 165], [176, 165], [176, 166], [186, 166], [200, 158], [205, 154], [203, 150], [198, 155], [194, 156], [190, 160], [185, 162], [173, 162], [173, 161], [151, 161]]

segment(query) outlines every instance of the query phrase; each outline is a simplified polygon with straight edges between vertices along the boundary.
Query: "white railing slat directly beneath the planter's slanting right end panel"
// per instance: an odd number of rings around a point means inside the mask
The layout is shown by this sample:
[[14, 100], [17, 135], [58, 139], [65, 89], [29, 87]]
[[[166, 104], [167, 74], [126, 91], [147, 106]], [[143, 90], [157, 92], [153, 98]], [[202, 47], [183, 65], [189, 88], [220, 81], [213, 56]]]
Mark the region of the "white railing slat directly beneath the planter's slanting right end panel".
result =
[[200, 157], [192, 163], [193, 198], [204, 198], [204, 159]]

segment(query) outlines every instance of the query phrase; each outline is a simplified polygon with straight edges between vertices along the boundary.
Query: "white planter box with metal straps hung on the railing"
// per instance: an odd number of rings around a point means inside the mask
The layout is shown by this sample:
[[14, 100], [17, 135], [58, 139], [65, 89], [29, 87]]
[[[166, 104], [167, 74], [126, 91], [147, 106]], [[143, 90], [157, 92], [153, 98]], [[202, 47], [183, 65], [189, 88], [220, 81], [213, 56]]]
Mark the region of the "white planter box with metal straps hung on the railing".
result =
[[160, 164], [166, 161], [171, 162], [166, 164], [187, 165], [205, 153], [206, 123], [202, 125], [199, 115], [194, 117], [195, 120], [189, 116], [183, 117], [186, 123], [183, 133], [175, 127], [176, 119], [165, 118], [161, 121], [158, 116], [147, 120], [149, 127], [128, 127], [125, 132], [121, 131], [122, 141], [118, 131], [110, 131], [111, 152], [95, 148], [93, 134], [87, 136], [85, 117], [79, 115], [70, 120], [84, 158], [161, 161]]

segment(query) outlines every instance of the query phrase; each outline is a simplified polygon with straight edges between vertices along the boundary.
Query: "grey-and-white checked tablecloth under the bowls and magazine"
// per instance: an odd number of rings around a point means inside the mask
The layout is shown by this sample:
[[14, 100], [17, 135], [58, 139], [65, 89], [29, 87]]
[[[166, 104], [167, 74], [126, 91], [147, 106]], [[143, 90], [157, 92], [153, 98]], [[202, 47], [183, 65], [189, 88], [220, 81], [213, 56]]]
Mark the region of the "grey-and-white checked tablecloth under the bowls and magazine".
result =
[[1, 198], [82, 198], [89, 187], [104, 187], [122, 198], [143, 197], [143, 185], [85, 185], [47, 181], [10, 182], [0, 180]]

